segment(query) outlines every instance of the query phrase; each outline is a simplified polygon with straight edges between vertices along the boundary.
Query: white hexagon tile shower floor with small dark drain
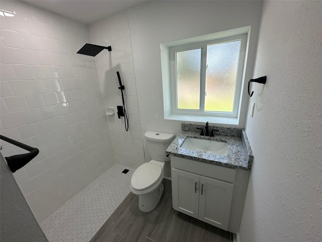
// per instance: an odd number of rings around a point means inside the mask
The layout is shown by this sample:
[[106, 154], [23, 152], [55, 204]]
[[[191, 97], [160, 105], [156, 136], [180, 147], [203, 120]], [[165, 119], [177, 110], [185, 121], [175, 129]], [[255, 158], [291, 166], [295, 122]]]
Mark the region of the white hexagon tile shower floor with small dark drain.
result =
[[[123, 169], [129, 169], [126, 174]], [[88, 242], [130, 192], [134, 169], [114, 164], [40, 226], [50, 242]]]

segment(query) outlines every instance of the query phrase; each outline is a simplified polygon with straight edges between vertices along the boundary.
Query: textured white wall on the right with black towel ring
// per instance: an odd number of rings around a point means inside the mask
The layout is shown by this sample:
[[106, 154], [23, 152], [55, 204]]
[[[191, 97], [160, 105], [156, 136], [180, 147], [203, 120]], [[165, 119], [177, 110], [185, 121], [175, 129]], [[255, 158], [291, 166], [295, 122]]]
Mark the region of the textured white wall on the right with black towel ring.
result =
[[241, 242], [322, 241], [322, 2], [264, 3]]

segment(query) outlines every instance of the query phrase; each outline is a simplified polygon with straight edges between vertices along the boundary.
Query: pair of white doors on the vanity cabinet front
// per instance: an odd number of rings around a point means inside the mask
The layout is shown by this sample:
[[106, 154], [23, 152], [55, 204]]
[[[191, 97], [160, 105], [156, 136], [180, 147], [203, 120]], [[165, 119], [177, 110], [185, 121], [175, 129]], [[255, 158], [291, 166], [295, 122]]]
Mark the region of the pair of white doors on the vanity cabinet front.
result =
[[233, 185], [172, 168], [173, 208], [227, 230]]

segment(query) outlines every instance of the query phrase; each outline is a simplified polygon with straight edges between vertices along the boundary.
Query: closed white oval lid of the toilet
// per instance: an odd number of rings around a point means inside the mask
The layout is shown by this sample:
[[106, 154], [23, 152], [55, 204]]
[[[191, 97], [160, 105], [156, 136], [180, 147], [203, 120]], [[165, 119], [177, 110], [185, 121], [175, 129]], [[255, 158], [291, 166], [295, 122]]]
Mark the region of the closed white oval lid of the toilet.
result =
[[162, 167], [156, 164], [144, 163], [133, 173], [131, 178], [132, 188], [143, 190], [153, 186], [162, 174]]

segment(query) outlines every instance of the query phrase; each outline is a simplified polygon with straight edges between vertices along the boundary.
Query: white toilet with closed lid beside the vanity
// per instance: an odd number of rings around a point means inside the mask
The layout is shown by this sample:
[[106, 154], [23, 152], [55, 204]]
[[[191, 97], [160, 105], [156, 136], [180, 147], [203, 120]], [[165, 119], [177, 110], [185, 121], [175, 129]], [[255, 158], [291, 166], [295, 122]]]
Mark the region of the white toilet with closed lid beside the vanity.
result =
[[156, 207], [164, 190], [162, 184], [163, 169], [165, 162], [170, 161], [166, 149], [175, 139], [175, 135], [147, 131], [144, 137], [151, 160], [140, 165], [134, 171], [130, 190], [132, 193], [139, 195], [139, 209], [147, 213]]

